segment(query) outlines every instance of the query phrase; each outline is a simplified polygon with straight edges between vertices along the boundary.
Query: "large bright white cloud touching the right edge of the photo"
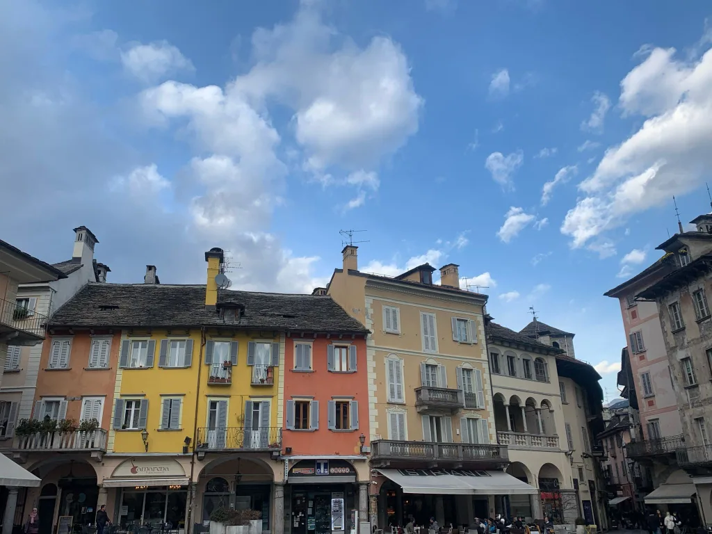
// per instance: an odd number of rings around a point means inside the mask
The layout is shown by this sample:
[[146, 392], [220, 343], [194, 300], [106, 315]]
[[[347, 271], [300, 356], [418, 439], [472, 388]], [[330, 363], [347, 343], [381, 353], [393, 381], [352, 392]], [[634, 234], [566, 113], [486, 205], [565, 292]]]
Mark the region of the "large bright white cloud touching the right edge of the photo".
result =
[[654, 48], [621, 83], [619, 105], [647, 117], [620, 145], [610, 147], [579, 188], [561, 231], [574, 248], [625, 224], [632, 214], [690, 192], [712, 167], [712, 50], [691, 61], [674, 49]]

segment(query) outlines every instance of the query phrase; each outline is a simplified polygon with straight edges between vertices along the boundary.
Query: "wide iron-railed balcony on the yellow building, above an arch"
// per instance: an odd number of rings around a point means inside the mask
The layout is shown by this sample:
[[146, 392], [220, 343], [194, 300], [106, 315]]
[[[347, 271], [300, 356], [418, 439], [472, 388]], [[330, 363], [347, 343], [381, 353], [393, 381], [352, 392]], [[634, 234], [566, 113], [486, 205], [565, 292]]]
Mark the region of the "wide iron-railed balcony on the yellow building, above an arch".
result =
[[281, 451], [282, 429], [263, 426], [250, 430], [242, 426], [198, 429], [196, 451]]

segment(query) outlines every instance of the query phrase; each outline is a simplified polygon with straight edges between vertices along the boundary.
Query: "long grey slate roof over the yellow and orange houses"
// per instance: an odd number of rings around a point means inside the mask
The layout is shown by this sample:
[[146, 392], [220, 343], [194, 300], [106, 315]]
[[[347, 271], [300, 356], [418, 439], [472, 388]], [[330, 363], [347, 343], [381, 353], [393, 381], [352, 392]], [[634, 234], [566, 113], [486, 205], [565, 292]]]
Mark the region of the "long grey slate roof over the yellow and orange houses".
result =
[[221, 326], [303, 332], [362, 333], [368, 330], [331, 297], [221, 292], [219, 305], [244, 307], [241, 318], [224, 322], [205, 306], [205, 286], [90, 282], [50, 320], [50, 327]]

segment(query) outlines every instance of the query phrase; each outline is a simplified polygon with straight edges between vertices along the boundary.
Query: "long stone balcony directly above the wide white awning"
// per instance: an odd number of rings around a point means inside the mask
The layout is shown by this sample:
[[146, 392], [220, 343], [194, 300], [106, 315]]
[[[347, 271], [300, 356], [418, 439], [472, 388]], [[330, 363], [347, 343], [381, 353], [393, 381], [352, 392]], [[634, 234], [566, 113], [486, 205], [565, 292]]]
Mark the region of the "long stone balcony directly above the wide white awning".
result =
[[430, 466], [458, 466], [464, 468], [492, 468], [509, 463], [505, 445], [470, 443], [436, 443], [433, 441], [392, 441], [379, 439], [371, 442], [371, 459], [375, 466], [423, 462]]

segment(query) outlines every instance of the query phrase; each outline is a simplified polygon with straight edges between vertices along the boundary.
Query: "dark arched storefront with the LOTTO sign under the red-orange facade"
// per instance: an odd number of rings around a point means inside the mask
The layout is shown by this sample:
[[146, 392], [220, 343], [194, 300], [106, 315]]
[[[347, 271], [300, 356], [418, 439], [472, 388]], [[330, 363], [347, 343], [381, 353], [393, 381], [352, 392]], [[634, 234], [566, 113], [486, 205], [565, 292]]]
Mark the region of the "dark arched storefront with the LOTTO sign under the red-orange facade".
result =
[[345, 460], [301, 460], [288, 472], [286, 534], [350, 533], [357, 528], [355, 468]]

